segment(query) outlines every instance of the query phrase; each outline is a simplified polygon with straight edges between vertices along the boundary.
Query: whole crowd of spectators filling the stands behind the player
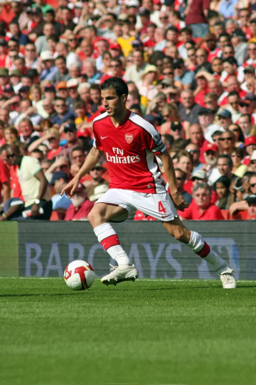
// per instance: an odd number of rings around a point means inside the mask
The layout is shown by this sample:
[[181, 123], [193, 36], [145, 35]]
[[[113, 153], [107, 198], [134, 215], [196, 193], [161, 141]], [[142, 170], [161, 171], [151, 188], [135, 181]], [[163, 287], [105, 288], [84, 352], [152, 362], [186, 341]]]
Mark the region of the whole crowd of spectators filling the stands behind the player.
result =
[[108, 189], [104, 157], [72, 200], [60, 192], [111, 76], [162, 135], [190, 203], [181, 218], [256, 217], [255, 0], [3, 0], [0, 220], [87, 219]]

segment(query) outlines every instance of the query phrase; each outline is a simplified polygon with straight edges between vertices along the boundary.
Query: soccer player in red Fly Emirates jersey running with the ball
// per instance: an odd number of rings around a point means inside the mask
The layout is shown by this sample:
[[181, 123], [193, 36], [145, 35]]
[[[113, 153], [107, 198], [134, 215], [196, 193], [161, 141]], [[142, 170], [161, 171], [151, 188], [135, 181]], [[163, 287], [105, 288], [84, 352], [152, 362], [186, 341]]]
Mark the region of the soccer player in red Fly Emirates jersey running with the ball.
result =
[[[178, 191], [172, 159], [154, 126], [126, 108], [127, 96], [128, 86], [121, 78], [111, 77], [102, 83], [101, 97], [106, 112], [93, 121], [93, 148], [77, 175], [61, 192], [73, 197], [79, 179], [105, 154], [111, 178], [109, 190], [88, 214], [99, 242], [118, 264], [102, 278], [102, 283], [116, 285], [138, 277], [138, 270], [131, 265], [109, 223], [124, 221], [138, 209], [160, 220], [170, 235], [205, 259], [220, 275], [225, 289], [235, 288], [228, 264], [200, 234], [188, 230], [179, 219], [176, 208], [184, 211], [189, 205]], [[163, 163], [171, 196], [162, 184], [156, 155]]]

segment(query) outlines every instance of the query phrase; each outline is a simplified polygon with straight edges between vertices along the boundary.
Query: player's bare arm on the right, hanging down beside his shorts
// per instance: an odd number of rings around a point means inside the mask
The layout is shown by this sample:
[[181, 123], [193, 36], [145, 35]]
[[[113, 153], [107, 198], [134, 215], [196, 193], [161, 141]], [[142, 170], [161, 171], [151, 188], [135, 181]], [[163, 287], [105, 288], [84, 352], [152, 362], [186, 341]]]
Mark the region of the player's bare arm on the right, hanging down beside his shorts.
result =
[[166, 149], [158, 156], [161, 158], [161, 161], [163, 163], [164, 172], [170, 186], [170, 192], [175, 207], [178, 208], [180, 211], [184, 211], [184, 209], [187, 208], [189, 204], [184, 201], [184, 198], [178, 191], [172, 158]]

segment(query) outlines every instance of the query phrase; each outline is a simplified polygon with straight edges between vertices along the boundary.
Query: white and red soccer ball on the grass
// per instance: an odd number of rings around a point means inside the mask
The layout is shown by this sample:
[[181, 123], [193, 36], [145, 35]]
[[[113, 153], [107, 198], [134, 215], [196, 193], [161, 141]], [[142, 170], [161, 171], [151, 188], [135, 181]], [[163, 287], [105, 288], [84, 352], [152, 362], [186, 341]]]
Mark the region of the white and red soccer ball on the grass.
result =
[[73, 261], [64, 271], [64, 279], [73, 290], [86, 290], [92, 286], [95, 278], [94, 269], [85, 261]]

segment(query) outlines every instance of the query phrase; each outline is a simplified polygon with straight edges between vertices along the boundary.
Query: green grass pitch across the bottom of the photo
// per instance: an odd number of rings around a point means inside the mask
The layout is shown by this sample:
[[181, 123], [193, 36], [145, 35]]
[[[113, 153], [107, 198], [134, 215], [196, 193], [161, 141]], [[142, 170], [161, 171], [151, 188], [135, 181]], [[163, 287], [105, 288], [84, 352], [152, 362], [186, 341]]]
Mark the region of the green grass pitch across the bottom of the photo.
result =
[[1, 385], [256, 382], [256, 282], [0, 279]]

